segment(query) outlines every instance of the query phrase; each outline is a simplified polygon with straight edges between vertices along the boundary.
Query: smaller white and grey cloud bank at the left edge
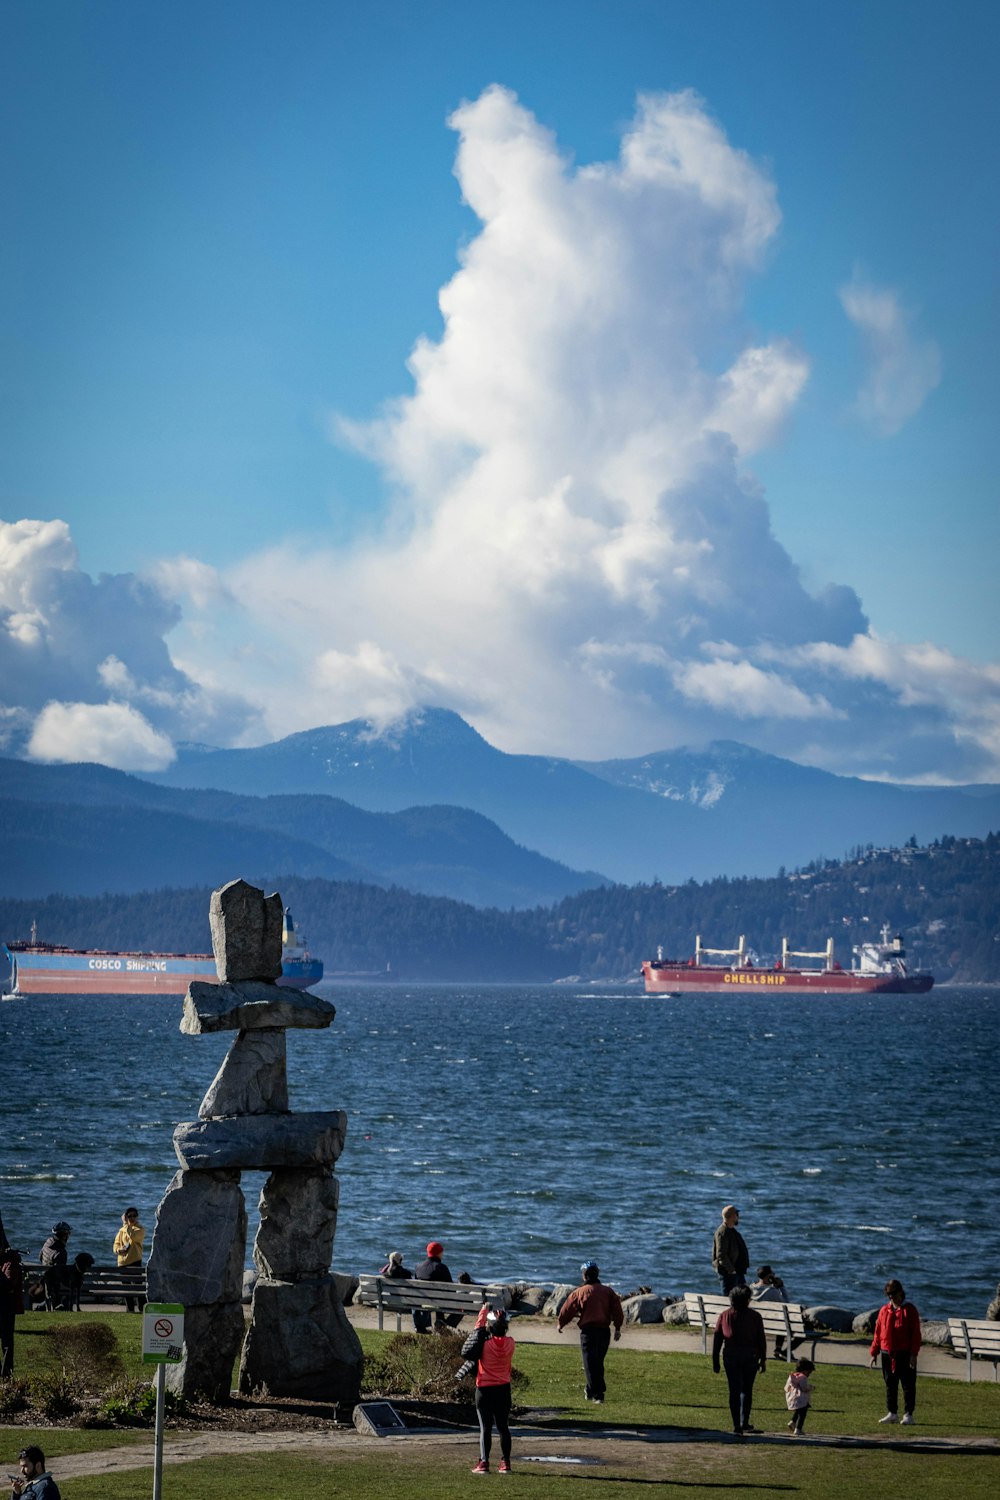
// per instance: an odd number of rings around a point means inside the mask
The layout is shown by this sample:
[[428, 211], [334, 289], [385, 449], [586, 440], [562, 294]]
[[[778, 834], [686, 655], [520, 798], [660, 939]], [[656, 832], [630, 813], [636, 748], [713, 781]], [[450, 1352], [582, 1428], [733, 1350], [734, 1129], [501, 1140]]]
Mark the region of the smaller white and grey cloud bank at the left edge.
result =
[[63, 520], [0, 520], [0, 753], [153, 771], [181, 738], [255, 720], [171, 660], [180, 610], [151, 580], [90, 578]]

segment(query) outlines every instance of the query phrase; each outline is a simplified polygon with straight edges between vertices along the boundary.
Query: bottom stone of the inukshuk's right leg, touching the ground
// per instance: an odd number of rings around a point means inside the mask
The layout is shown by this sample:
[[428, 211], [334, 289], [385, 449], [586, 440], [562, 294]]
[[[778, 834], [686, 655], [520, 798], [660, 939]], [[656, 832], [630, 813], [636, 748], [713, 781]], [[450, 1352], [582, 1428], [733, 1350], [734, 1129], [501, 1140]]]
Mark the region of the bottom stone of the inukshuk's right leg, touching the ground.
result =
[[333, 1276], [258, 1281], [240, 1360], [240, 1392], [354, 1404], [364, 1356]]

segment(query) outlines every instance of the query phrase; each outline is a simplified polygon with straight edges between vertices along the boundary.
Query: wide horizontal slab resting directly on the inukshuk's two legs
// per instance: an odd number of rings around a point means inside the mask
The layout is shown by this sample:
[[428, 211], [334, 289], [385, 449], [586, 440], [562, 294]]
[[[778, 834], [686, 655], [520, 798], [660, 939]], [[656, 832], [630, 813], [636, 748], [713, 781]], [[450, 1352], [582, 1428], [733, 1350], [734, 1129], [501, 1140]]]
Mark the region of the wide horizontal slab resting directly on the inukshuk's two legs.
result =
[[303, 1114], [229, 1114], [187, 1120], [174, 1131], [181, 1167], [217, 1172], [226, 1167], [261, 1172], [276, 1167], [331, 1167], [343, 1150], [348, 1118], [343, 1110]]

